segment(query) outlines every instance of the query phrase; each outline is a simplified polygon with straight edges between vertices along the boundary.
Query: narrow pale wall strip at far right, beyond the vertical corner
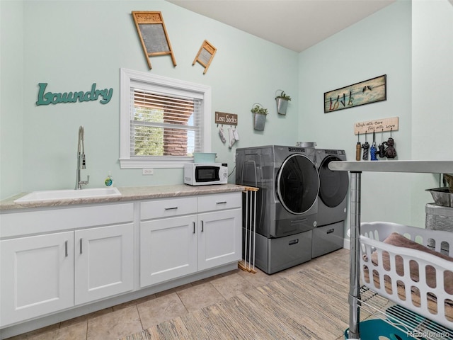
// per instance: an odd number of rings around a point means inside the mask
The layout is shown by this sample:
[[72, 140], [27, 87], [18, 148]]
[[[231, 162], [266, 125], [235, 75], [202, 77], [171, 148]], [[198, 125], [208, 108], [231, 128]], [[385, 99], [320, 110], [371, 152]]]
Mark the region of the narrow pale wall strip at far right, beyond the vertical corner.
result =
[[[412, 159], [453, 159], [453, 1], [412, 4]], [[452, 169], [453, 173], [453, 169]], [[413, 175], [412, 215], [423, 220], [424, 203], [439, 176]]]

